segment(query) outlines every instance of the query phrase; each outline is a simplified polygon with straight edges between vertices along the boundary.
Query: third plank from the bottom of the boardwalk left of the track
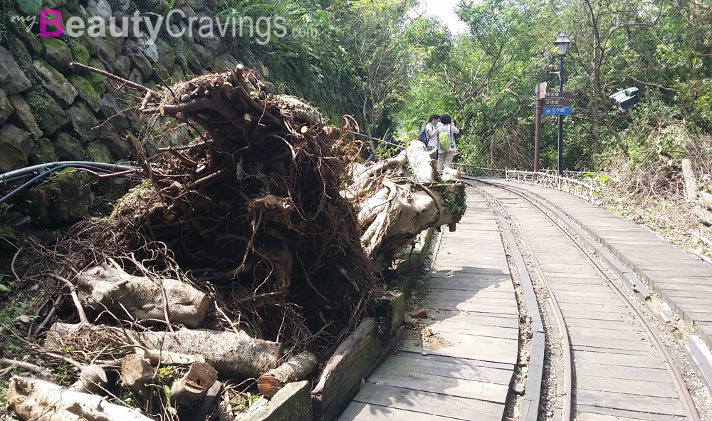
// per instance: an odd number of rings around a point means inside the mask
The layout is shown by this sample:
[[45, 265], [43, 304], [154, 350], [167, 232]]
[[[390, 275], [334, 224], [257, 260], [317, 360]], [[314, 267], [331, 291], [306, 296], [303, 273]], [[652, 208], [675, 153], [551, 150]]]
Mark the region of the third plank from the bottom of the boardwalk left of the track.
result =
[[390, 385], [411, 390], [439, 393], [441, 395], [469, 397], [503, 404], [507, 400], [509, 385], [484, 383], [476, 380], [441, 377], [421, 373], [402, 375], [385, 374], [376, 370], [367, 380], [377, 385]]

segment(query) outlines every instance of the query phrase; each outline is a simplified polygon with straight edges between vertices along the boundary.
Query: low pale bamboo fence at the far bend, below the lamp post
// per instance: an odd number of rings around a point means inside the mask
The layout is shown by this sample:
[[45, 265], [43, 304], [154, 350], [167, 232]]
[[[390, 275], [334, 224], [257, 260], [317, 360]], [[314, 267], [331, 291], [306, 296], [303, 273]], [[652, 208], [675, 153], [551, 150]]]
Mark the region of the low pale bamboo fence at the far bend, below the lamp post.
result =
[[596, 202], [595, 195], [601, 191], [601, 184], [592, 177], [585, 177], [586, 172], [567, 171], [561, 177], [554, 171], [518, 171], [506, 170], [507, 180], [538, 184], [550, 189], [561, 190], [581, 197], [588, 202]]

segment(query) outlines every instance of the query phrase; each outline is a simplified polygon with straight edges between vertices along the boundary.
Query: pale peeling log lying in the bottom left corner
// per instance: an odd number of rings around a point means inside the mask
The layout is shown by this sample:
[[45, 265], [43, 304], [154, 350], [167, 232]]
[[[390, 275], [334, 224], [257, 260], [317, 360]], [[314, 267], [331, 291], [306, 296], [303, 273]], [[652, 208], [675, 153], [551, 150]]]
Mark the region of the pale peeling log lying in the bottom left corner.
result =
[[23, 420], [152, 421], [140, 410], [115, 405], [102, 396], [18, 376], [10, 379], [7, 402]]

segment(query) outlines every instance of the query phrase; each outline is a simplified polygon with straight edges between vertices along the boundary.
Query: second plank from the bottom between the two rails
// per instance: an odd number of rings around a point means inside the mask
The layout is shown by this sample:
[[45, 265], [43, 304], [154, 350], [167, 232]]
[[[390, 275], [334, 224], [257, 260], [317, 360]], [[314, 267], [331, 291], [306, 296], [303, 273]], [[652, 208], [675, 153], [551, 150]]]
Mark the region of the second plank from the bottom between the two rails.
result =
[[576, 390], [575, 394], [577, 405], [651, 412], [661, 415], [685, 415], [685, 410], [680, 400], [669, 397], [628, 395], [625, 393], [602, 392], [600, 390]]

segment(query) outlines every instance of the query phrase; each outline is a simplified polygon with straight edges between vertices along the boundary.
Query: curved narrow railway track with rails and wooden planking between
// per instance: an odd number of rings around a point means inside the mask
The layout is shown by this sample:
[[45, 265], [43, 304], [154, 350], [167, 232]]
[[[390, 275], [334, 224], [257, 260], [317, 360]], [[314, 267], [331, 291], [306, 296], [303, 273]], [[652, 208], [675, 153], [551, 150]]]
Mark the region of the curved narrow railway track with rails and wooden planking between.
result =
[[[557, 383], [543, 378], [548, 388], [555, 389], [555, 393], [548, 391], [552, 411], [543, 416], [524, 408], [520, 419], [700, 420], [684, 378], [654, 326], [608, 268], [587, 251], [595, 246], [570, 234], [574, 227], [552, 216], [556, 212], [548, 204], [498, 183], [464, 180], [491, 204], [503, 229], [515, 233], [508, 237], [510, 249], [528, 256], [526, 269], [535, 279], [538, 303], [527, 301], [532, 331], [538, 332], [533, 313], [546, 308], [547, 317], [540, 320], [553, 325], [548, 326], [547, 345], [556, 343], [561, 350], [559, 355], [550, 355], [550, 365], [562, 367], [562, 373], [553, 373], [551, 368], [548, 373]], [[525, 260], [513, 257], [518, 266]], [[645, 287], [635, 286], [644, 296], [646, 291], [640, 291]], [[552, 337], [556, 331], [560, 335]], [[535, 344], [525, 404], [539, 408], [542, 394], [533, 388], [542, 385], [541, 371], [532, 367], [544, 364], [544, 353], [535, 350]]]

